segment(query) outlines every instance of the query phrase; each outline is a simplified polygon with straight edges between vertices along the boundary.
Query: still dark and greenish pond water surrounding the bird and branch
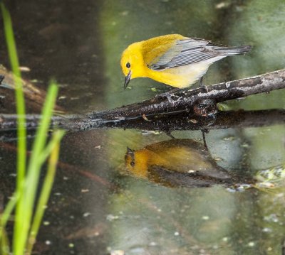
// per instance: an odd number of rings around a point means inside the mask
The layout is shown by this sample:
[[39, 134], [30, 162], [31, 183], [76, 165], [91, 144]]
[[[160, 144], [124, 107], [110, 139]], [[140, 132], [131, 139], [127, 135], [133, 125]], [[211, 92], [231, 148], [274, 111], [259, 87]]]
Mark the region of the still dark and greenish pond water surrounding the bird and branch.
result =
[[[253, 45], [245, 56], [212, 65], [204, 77], [206, 84], [259, 75], [285, 65], [283, 0], [28, 0], [10, 1], [9, 9], [20, 63], [31, 69], [23, 76], [40, 81], [42, 88], [55, 77], [61, 84], [58, 104], [72, 113], [138, 102], [153, 97], [157, 92], [152, 88], [166, 91], [165, 85], [147, 79], [133, 80], [130, 89], [123, 90], [120, 54], [130, 43], [153, 36], [181, 33], [224, 45]], [[1, 64], [9, 67], [1, 35]], [[226, 107], [284, 109], [284, 98], [283, 89], [234, 100]], [[172, 135], [202, 143], [200, 131], [174, 131]], [[212, 130], [206, 136], [215, 168], [254, 176], [261, 169], [284, 166], [284, 124]], [[166, 134], [140, 130], [67, 134], [35, 250], [39, 254], [120, 250], [125, 254], [280, 254], [285, 238], [282, 185], [267, 192], [230, 192], [223, 185], [170, 188], [127, 173], [127, 146], [140, 150], [167, 140]], [[171, 155], [163, 164], [177, 161]], [[190, 148], [177, 155], [180, 161], [183, 156], [191, 157]], [[14, 190], [15, 158], [13, 146], [1, 146], [4, 200]], [[144, 155], [140, 163], [153, 164], [149, 158]], [[182, 168], [178, 163], [175, 166]]]

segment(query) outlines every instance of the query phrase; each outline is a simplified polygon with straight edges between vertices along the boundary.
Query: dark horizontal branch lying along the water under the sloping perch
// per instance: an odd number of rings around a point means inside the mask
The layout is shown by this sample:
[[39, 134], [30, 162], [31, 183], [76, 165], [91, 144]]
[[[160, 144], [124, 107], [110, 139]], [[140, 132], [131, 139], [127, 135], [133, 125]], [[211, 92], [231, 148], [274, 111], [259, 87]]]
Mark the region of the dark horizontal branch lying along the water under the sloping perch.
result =
[[[38, 123], [38, 119], [34, 116], [27, 116], [29, 137], [35, 134], [34, 127]], [[13, 118], [13, 119], [12, 119]], [[5, 121], [10, 126], [0, 128], [0, 141], [14, 141], [16, 139], [15, 115], [10, 116], [10, 122]], [[245, 128], [271, 126], [276, 124], [285, 124], [285, 110], [269, 109], [260, 111], [228, 111], [217, 112], [213, 116], [189, 116], [187, 113], [180, 113], [174, 116], [160, 115], [152, 116], [149, 121], [145, 119], [125, 119], [123, 121], [104, 121], [97, 120], [96, 124], [92, 124], [93, 129], [143, 129], [148, 131], [165, 131], [167, 133], [175, 130], [201, 130], [201, 129], [229, 129], [229, 128]], [[68, 115], [65, 119], [62, 117], [53, 117], [53, 126], [59, 126], [68, 131], [90, 130], [87, 126], [86, 119], [82, 123], [81, 120], [74, 119], [74, 116]], [[84, 127], [85, 129], [83, 129]]]

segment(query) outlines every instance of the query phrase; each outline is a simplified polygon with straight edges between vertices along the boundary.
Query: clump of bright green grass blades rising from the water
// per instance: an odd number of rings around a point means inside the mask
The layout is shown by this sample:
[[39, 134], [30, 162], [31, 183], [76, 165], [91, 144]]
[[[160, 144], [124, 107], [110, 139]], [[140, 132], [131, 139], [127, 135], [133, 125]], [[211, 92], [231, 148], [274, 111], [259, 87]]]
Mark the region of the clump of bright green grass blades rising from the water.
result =
[[[9, 254], [9, 239], [5, 232], [6, 223], [11, 213], [15, 209], [14, 233], [13, 233], [13, 254], [31, 254], [33, 244], [36, 240], [36, 234], [41, 224], [43, 212], [48, 202], [48, 197], [53, 185], [53, 179], [56, 172], [56, 164], [59, 155], [59, 143], [63, 137], [63, 131], [54, 131], [51, 141], [47, 142], [48, 129], [51, 124], [53, 107], [56, 102], [58, 87], [55, 82], [51, 82], [46, 102], [43, 105], [42, 117], [39, 127], [36, 131], [36, 139], [33, 141], [31, 158], [26, 167], [26, 119], [24, 92], [21, 83], [21, 72], [19, 70], [19, 60], [16, 52], [16, 43], [11, 23], [9, 11], [0, 3], [1, 13], [4, 21], [4, 32], [6, 44], [11, 62], [11, 68], [14, 74], [16, 87], [16, 112], [17, 119], [17, 136], [18, 136], [18, 153], [17, 153], [17, 178], [16, 191], [13, 197], [5, 207], [1, 215], [0, 225], [0, 244], [2, 254]], [[38, 180], [41, 168], [47, 158], [48, 168], [40, 197], [36, 205], [36, 192], [38, 190]], [[16, 207], [16, 208], [15, 208]], [[36, 207], [35, 212], [34, 208]]]

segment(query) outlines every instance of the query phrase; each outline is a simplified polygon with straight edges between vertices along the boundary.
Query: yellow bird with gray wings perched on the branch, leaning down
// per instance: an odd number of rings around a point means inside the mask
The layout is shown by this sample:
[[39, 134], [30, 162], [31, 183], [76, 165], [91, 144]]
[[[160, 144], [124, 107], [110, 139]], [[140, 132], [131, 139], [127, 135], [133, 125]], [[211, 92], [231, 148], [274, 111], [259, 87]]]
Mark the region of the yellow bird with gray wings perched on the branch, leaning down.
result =
[[229, 55], [242, 55], [250, 49], [250, 45], [222, 47], [209, 40], [178, 34], [142, 40], [129, 45], [120, 60], [124, 88], [137, 77], [149, 77], [177, 88], [189, 87], [202, 78], [212, 63]]

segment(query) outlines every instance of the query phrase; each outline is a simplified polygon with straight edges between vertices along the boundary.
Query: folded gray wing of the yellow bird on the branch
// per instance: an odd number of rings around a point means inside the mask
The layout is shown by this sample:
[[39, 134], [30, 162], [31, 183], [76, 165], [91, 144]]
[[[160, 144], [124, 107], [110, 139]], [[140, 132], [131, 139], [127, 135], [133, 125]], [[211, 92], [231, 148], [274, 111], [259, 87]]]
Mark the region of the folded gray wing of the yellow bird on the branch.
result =
[[209, 58], [222, 55], [221, 52], [212, 49], [209, 40], [184, 39], [177, 40], [169, 50], [156, 58], [148, 67], [152, 70], [165, 70], [198, 63]]

